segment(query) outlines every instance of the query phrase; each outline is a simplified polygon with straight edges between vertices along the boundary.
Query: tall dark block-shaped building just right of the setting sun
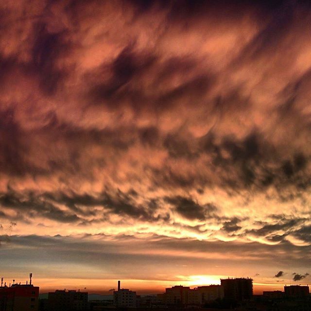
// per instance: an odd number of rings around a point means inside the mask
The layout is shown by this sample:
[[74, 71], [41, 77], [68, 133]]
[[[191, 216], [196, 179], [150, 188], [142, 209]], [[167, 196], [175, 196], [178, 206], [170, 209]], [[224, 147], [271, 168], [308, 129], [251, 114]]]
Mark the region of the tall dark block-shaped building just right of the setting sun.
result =
[[220, 281], [224, 287], [225, 299], [243, 301], [253, 297], [253, 280], [251, 278], [223, 278]]

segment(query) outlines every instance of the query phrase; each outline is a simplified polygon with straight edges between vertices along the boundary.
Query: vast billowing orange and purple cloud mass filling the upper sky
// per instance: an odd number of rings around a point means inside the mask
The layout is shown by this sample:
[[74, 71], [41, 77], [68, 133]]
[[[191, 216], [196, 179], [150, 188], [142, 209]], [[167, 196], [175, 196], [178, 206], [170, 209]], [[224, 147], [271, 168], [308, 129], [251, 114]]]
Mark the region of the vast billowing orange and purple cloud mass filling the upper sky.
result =
[[273, 2], [3, 6], [0, 217], [310, 243], [311, 17]]

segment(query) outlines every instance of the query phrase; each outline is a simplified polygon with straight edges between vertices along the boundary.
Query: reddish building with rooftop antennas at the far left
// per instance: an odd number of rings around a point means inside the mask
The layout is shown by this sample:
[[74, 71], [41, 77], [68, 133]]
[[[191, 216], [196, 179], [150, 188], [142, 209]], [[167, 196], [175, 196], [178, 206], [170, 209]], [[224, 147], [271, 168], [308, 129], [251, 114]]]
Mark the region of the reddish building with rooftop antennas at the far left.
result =
[[[14, 283], [14, 282], [13, 282]], [[0, 311], [37, 311], [39, 287], [26, 284], [13, 284], [0, 287]]]

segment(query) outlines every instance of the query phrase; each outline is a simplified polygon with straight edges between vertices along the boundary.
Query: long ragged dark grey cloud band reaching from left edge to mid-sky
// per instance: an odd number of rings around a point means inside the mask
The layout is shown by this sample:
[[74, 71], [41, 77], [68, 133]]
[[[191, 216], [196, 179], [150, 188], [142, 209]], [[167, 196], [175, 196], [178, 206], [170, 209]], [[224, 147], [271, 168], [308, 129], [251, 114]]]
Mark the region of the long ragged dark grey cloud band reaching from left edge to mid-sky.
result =
[[[40, 216], [63, 223], [84, 224], [103, 221], [108, 219], [109, 214], [143, 221], [158, 221], [167, 218], [167, 215], [154, 216], [157, 205], [153, 200], [146, 202], [148, 207], [138, 204], [135, 201], [137, 195], [135, 190], [130, 190], [127, 193], [118, 190], [113, 194], [104, 192], [98, 196], [62, 192], [16, 193], [9, 190], [0, 194], [0, 205], [16, 211], [15, 218], [18, 220]], [[60, 206], [68, 207], [68, 210], [64, 211]], [[96, 207], [104, 207], [105, 211], [99, 211]], [[5, 216], [7, 215], [4, 212], [0, 213], [0, 217]], [[101, 216], [101, 218], [96, 220], [95, 216]]]

